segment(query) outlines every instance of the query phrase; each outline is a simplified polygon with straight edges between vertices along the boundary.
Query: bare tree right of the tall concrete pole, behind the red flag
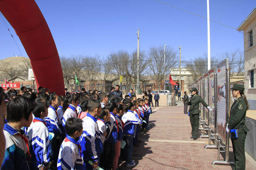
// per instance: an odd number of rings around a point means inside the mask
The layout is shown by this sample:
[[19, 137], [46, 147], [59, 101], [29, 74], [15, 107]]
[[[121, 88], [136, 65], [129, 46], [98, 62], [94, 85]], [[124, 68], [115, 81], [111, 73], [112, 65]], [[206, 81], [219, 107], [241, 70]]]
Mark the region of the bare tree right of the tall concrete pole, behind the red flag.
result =
[[167, 46], [165, 48], [165, 75], [164, 75], [164, 45], [158, 47], [151, 47], [148, 51], [148, 56], [151, 59], [149, 67], [153, 72], [154, 80], [156, 80], [158, 89], [160, 90], [161, 81], [164, 80], [164, 76], [169, 74], [169, 70], [177, 65], [178, 52], [172, 47]]

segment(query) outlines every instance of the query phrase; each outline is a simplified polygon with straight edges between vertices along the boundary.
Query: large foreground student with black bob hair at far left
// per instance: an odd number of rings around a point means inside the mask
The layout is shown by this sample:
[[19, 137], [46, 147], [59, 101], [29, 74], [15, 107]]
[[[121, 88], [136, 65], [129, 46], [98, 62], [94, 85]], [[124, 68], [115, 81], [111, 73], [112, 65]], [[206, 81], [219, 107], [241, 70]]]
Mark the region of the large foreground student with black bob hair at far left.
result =
[[36, 156], [27, 135], [21, 130], [29, 127], [32, 120], [33, 104], [23, 96], [12, 99], [7, 106], [7, 121], [4, 124], [5, 155], [1, 170], [38, 169]]

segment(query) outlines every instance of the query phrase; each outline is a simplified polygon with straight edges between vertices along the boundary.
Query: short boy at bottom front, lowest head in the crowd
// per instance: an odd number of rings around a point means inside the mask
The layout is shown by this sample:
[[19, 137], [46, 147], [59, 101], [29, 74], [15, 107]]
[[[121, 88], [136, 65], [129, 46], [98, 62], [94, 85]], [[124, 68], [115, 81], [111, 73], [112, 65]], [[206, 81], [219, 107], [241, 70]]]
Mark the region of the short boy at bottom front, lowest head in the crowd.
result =
[[58, 157], [58, 170], [83, 170], [81, 145], [79, 137], [83, 133], [82, 120], [71, 117], [66, 121], [66, 138], [61, 144]]

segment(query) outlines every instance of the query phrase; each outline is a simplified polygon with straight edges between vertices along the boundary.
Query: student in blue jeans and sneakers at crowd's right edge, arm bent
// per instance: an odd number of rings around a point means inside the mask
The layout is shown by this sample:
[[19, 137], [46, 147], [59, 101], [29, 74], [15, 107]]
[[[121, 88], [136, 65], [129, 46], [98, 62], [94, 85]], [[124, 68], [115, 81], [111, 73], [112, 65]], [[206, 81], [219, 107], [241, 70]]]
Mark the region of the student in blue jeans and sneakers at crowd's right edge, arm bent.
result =
[[125, 163], [126, 166], [134, 166], [134, 160], [132, 160], [132, 148], [133, 142], [132, 137], [135, 131], [135, 125], [140, 123], [140, 119], [138, 119], [133, 113], [134, 107], [132, 102], [128, 102], [124, 105], [124, 111], [126, 112], [123, 117], [122, 121], [124, 122], [124, 129], [123, 129], [123, 136], [126, 145], [124, 146], [124, 154], [125, 154]]

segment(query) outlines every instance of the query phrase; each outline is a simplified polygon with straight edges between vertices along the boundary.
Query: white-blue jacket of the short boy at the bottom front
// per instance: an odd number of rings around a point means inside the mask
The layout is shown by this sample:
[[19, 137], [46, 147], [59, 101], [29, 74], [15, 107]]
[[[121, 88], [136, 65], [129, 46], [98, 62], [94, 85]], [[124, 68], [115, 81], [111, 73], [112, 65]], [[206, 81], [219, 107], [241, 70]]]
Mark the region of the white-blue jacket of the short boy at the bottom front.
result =
[[57, 169], [84, 170], [83, 159], [80, 155], [80, 147], [78, 141], [67, 135], [60, 146]]

